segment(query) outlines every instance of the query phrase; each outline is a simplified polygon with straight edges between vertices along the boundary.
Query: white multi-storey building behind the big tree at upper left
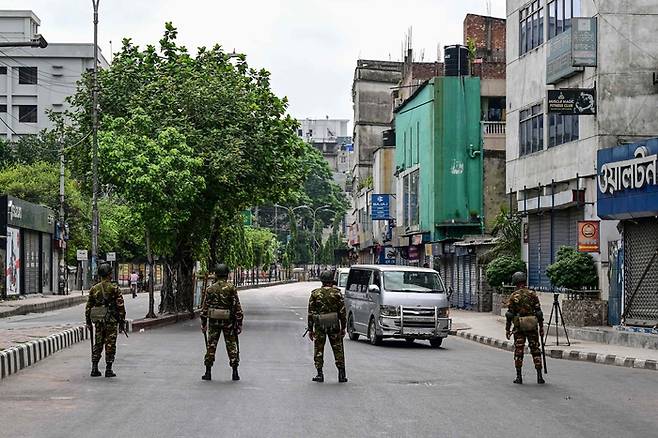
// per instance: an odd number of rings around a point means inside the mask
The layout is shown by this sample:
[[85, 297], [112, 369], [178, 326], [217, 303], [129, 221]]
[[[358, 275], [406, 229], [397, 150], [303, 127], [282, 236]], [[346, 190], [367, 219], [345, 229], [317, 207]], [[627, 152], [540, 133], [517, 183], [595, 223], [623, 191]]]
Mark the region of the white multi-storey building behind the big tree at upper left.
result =
[[[0, 11], [0, 40], [29, 41], [41, 20], [32, 11]], [[64, 112], [76, 82], [94, 65], [93, 44], [49, 43], [0, 52], [0, 139], [15, 140], [50, 128], [48, 111]], [[109, 64], [99, 55], [101, 68]]]

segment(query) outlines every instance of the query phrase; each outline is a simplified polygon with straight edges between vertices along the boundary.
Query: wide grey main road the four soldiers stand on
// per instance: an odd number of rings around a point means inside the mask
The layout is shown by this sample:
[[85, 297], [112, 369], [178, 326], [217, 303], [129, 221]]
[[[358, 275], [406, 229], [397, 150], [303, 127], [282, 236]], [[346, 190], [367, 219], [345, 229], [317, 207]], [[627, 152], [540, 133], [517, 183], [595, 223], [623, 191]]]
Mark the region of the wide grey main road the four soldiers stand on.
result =
[[[223, 350], [203, 382], [199, 322], [119, 338], [115, 379], [90, 378], [78, 344], [0, 383], [0, 436], [655, 436], [653, 371], [549, 359], [548, 384], [512, 384], [512, 354], [450, 337], [444, 348], [346, 340], [311, 382], [301, 334], [310, 284], [241, 292], [242, 380]], [[327, 354], [331, 356], [327, 347]]]

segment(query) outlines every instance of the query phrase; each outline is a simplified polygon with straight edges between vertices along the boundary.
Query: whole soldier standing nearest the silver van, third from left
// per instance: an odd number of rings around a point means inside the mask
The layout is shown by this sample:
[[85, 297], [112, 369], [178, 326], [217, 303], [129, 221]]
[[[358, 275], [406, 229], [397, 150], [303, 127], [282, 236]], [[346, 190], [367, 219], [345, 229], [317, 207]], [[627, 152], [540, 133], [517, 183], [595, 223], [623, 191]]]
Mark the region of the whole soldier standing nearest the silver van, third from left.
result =
[[324, 344], [329, 338], [329, 344], [334, 353], [338, 368], [338, 381], [347, 382], [345, 377], [345, 352], [343, 337], [347, 326], [345, 301], [340, 289], [334, 287], [334, 276], [331, 271], [320, 274], [322, 287], [311, 292], [308, 301], [308, 331], [314, 341], [315, 368], [318, 370], [314, 382], [324, 382], [322, 366], [324, 365]]

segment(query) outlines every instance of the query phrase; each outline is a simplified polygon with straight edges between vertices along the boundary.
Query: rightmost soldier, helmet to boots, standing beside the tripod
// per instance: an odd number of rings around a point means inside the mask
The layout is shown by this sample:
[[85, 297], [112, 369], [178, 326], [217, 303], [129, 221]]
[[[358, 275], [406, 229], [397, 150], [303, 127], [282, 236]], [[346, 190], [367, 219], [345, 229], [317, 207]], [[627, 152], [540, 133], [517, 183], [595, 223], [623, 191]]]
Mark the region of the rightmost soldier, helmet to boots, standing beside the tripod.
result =
[[[514, 334], [514, 366], [516, 367], [516, 380], [514, 383], [522, 384], [521, 368], [523, 367], [523, 352], [526, 340], [530, 354], [537, 370], [537, 383], [543, 384], [540, 336], [544, 336], [544, 314], [541, 310], [539, 298], [533, 291], [526, 289], [526, 274], [516, 272], [512, 276], [512, 284], [516, 290], [509, 297], [509, 308], [506, 317], [505, 332], [507, 339]], [[511, 331], [514, 324], [514, 331]]]

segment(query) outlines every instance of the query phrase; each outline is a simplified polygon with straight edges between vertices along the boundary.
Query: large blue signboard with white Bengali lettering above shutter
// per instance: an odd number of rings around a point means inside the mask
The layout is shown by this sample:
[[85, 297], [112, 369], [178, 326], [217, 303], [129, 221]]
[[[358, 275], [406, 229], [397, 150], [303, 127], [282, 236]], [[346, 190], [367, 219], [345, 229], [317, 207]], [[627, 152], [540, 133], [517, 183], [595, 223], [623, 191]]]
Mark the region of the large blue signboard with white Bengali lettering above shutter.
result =
[[598, 151], [597, 169], [599, 217], [658, 214], [658, 138]]

